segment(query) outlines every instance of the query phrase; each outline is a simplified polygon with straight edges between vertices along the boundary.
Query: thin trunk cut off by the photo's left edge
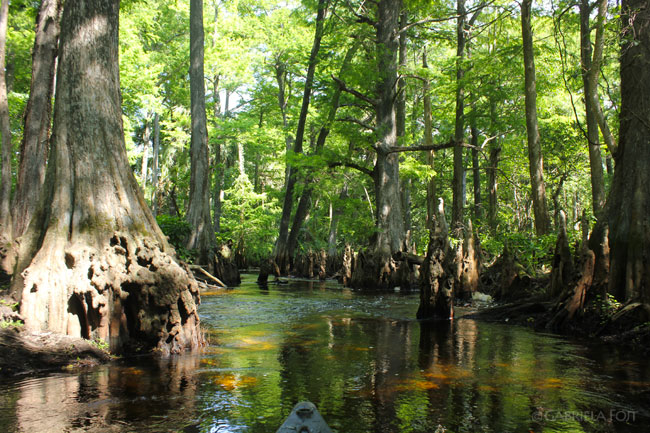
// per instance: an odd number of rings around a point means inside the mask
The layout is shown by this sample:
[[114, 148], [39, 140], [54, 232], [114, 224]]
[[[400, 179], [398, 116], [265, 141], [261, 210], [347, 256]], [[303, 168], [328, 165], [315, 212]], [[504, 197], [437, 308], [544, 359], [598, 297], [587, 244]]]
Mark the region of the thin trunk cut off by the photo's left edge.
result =
[[[2, 153], [0, 171], [0, 247], [11, 241], [11, 125], [9, 124], [9, 105], [7, 101], [7, 84], [5, 80], [5, 52], [7, 42], [7, 20], [9, 18], [9, 0], [2, 0], [0, 5], [0, 134], [2, 134]], [[4, 262], [4, 260], [3, 260]], [[7, 265], [9, 266], [9, 265]], [[3, 265], [3, 267], [5, 267]], [[4, 269], [1, 271], [8, 271]]]

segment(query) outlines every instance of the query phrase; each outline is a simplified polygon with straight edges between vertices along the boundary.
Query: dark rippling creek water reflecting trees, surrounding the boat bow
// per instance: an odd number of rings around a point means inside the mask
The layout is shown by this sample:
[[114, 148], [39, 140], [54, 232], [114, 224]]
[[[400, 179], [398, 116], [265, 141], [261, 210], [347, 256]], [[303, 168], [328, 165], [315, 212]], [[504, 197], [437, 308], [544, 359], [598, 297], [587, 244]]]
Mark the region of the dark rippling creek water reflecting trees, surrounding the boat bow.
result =
[[203, 296], [200, 355], [0, 383], [0, 432], [275, 432], [300, 400], [354, 432], [648, 432], [650, 363], [292, 282]]

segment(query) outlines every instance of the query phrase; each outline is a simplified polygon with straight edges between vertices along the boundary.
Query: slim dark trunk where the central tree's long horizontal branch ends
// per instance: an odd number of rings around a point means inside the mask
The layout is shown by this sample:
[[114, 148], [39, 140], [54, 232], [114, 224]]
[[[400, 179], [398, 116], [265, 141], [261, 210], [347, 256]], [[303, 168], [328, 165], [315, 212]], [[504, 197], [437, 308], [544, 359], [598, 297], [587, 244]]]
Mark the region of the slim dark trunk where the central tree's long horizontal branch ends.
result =
[[465, 0], [458, 0], [456, 4], [456, 123], [454, 128], [454, 178], [452, 181], [453, 201], [451, 205], [451, 227], [463, 223], [463, 207], [465, 205], [463, 193], [463, 179], [465, 175], [465, 162], [463, 161], [463, 139], [465, 138], [464, 98], [463, 88], [463, 60], [465, 59]]

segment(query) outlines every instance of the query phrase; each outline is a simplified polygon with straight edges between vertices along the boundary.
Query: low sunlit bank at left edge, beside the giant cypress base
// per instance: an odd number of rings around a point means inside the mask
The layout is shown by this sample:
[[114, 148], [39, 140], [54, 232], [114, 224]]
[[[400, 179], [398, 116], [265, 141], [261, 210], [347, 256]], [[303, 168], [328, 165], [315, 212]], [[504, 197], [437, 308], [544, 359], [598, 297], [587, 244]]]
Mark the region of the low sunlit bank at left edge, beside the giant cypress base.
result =
[[15, 304], [0, 297], [0, 377], [83, 368], [111, 356], [83, 338], [24, 329]]

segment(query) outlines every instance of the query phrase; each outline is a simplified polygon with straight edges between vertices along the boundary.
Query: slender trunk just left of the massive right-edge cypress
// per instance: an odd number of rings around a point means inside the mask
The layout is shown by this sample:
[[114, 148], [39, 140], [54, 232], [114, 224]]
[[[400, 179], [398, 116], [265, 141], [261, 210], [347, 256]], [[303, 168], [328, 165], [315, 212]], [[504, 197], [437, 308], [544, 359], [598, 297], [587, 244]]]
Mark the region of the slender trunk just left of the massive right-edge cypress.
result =
[[[605, 205], [605, 177], [603, 160], [600, 153], [598, 136], [597, 107], [594, 105], [594, 92], [597, 92], [600, 62], [592, 62], [591, 27], [589, 0], [580, 1], [580, 63], [582, 66], [582, 83], [585, 92], [585, 118], [587, 123], [587, 146], [589, 149], [589, 167], [591, 170], [591, 197], [594, 215], [600, 215]], [[598, 69], [596, 69], [598, 68]]]

